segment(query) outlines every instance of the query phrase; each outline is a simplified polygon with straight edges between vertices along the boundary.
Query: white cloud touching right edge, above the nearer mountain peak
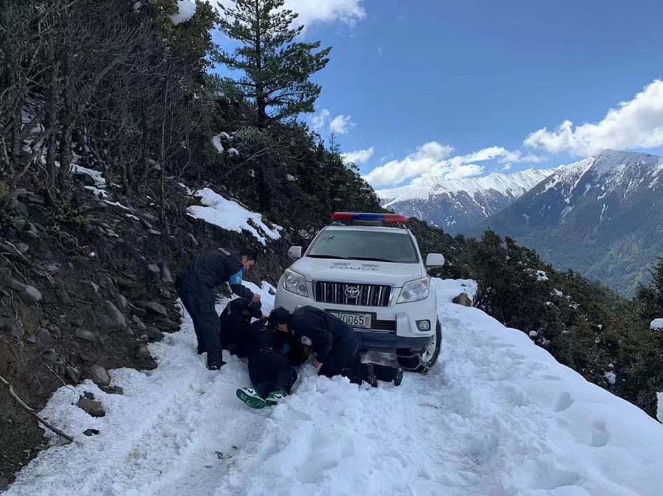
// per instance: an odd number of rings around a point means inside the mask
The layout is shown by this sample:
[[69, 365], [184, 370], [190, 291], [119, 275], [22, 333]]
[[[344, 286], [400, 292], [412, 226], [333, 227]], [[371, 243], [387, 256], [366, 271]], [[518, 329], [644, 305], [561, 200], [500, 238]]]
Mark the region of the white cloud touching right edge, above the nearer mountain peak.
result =
[[656, 148], [663, 145], [663, 80], [656, 79], [633, 100], [610, 109], [599, 123], [574, 125], [564, 121], [554, 131], [546, 127], [525, 140], [530, 148], [588, 156], [606, 148]]

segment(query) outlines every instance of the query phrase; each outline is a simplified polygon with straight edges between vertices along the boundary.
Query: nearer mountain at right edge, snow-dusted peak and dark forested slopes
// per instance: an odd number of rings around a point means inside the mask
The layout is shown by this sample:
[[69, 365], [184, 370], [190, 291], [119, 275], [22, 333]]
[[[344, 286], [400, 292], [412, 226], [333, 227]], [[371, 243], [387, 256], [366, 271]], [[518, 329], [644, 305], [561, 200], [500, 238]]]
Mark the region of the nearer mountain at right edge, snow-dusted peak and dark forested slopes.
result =
[[663, 157], [605, 150], [565, 166], [496, 213], [491, 227], [573, 268], [632, 294], [663, 253]]

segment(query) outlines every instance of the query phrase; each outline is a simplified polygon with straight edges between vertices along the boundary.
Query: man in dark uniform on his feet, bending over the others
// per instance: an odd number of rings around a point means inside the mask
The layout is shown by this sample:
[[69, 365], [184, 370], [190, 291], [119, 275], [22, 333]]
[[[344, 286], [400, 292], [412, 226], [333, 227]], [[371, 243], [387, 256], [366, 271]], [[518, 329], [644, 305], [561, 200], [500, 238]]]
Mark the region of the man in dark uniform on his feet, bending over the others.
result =
[[177, 275], [177, 294], [193, 320], [198, 354], [207, 352], [207, 368], [210, 370], [218, 370], [225, 365], [218, 332], [218, 314], [214, 308], [214, 288], [228, 283], [237, 296], [258, 302], [260, 295], [241, 284], [244, 272], [250, 270], [257, 259], [255, 251], [244, 251], [234, 256], [219, 248], [195, 257]]

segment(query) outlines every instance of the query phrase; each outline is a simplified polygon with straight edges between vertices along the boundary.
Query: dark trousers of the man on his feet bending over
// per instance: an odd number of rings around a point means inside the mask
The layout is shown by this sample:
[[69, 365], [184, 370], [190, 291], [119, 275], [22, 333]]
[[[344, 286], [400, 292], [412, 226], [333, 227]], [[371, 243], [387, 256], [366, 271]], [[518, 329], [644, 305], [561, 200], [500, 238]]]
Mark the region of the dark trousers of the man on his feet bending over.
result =
[[218, 315], [214, 307], [214, 290], [188, 291], [178, 288], [177, 294], [193, 320], [198, 350], [207, 352], [207, 366], [220, 365], [223, 362], [223, 350], [218, 332]]

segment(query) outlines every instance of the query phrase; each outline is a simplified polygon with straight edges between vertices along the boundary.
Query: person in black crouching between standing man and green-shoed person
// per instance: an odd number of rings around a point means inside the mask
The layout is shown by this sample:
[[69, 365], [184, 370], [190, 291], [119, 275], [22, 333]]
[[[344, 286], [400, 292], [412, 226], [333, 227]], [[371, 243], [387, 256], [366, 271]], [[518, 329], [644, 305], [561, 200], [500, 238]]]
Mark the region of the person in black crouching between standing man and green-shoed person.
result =
[[249, 327], [253, 318], [262, 318], [261, 307], [260, 302], [235, 298], [221, 312], [218, 318], [221, 347], [230, 351], [230, 355], [248, 357]]

